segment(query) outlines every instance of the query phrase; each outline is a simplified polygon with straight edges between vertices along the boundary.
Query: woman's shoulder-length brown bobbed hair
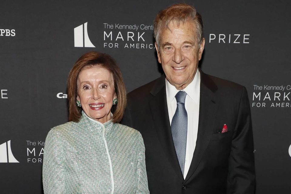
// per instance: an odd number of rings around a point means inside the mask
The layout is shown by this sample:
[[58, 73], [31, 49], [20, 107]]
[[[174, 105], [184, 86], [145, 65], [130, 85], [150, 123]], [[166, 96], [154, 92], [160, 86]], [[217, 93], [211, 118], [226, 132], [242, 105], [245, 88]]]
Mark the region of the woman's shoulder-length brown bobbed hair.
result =
[[79, 73], [84, 67], [101, 66], [107, 69], [114, 81], [115, 94], [118, 102], [112, 107], [113, 122], [119, 122], [126, 107], [126, 89], [122, 79], [121, 71], [115, 60], [108, 54], [99, 52], [88, 52], [82, 55], [71, 69], [68, 77], [68, 99], [69, 99], [69, 121], [79, 122], [82, 115], [82, 107], [76, 105]]

